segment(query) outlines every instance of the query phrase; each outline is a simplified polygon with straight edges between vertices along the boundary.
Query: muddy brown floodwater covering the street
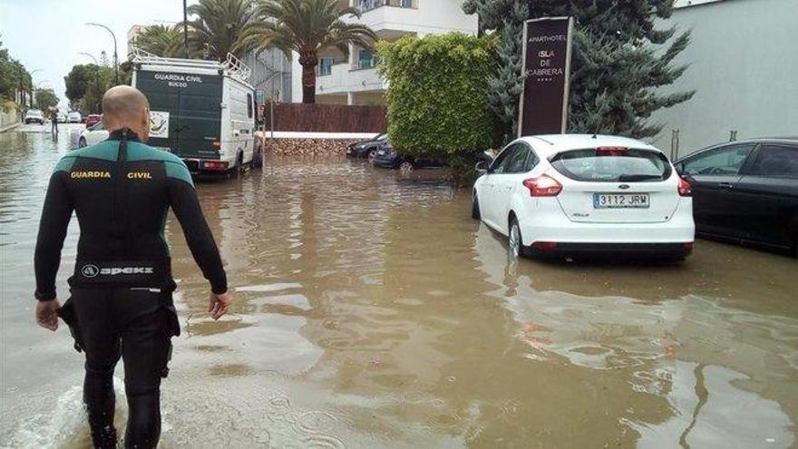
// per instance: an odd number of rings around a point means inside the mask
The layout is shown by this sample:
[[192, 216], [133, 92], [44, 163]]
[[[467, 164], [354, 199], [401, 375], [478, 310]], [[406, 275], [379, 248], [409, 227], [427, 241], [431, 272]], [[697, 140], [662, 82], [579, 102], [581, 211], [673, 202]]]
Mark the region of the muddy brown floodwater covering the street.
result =
[[[32, 312], [65, 141], [0, 134], [0, 446], [89, 444], [82, 356]], [[199, 183], [236, 303], [209, 319], [170, 219], [161, 447], [798, 444], [798, 262], [707, 241], [676, 266], [512, 262], [468, 191], [429, 178], [307, 159]]]

